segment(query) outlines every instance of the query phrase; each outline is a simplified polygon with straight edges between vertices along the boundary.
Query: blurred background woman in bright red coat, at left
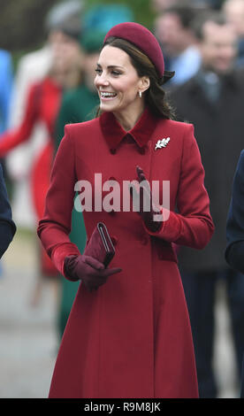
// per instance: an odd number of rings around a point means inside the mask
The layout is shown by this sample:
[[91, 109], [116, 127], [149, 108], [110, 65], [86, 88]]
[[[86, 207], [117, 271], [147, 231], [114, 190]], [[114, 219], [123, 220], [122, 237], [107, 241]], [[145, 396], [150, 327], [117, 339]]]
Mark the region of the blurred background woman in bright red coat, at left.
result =
[[[31, 196], [36, 220], [42, 218], [47, 190], [50, 185], [50, 170], [54, 158], [54, 133], [57, 113], [63, 91], [80, 82], [82, 54], [80, 50], [80, 23], [76, 27], [68, 20], [50, 34], [50, 68], [40, 81], [30, 85], [27, 105], [19, 127], [0, 135], [0, 158], [4, 158], [19, 144], [30, 140], [37, 123], [46, 131], [42, 147], [34, 158], [31, 170]], [[57, 276], [57, 269], [45, 250], [40, 250], [40, 268], [43, 277]], [[39, 292], [39, 281], [37, 285]], [[39, 295], [37, 294], [36, 297]], [[34, 299], [35, 300], [35, 299]]]

